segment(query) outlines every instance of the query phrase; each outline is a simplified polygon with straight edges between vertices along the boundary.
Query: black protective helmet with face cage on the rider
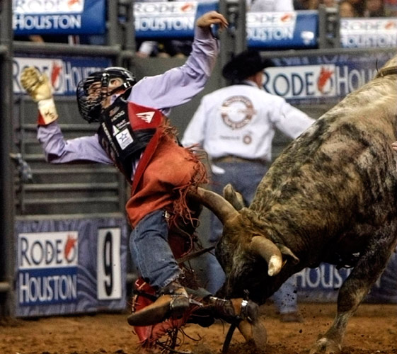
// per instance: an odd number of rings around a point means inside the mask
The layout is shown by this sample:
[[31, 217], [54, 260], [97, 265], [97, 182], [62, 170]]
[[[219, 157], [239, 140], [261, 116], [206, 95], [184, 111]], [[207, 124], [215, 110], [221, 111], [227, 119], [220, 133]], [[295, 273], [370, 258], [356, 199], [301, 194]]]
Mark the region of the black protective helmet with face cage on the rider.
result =
[[[122, 79], [123, 84], [108, 92], [110, 80], [114, 78]], [[93, 72], [77, 84], [76, 97], [81, 117], [89, 123], [98, 122], [105, 98], [117, 91], [125, 91], [136, 83], [134, 74], [122, 67], [108, 67], [100, 72]]]

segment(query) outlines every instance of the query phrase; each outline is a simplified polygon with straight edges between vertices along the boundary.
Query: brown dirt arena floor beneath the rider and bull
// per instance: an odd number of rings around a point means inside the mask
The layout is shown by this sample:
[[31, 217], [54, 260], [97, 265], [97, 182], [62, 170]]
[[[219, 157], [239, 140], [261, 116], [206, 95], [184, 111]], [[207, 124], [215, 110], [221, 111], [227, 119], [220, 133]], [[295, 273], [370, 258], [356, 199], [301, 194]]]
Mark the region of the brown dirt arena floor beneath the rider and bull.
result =
[[[300, 304], [304, 323], [282, 323], [272, 304], [262, 312], [267, 326], [268, 354], [307, 354], [333, 321], [335, 304]], [[144, 353], [128, 326], [127, 314], [16, 319], [0, 325], [0, 354], [137, 354]], [[221, 353], [229, 325], [207, 329], [189, 325], [179, 351]], [[235, 332], [229, 354], [254, 354]], [[397, 305], [362, 304], [350, 319], [343, 354], [397, 354]]]

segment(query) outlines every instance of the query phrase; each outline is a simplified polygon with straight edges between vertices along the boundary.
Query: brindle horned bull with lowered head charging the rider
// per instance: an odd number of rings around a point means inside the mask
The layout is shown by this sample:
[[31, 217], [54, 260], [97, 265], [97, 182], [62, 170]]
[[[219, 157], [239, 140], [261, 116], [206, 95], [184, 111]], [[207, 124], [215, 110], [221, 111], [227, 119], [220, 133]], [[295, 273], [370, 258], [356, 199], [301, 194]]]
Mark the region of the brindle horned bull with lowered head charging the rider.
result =
[[347, 322], [379, 278], [397, 241], [397, 57], [361, 89], [318, 118], [280, 154], [249, 207], [195, 199], [224, 224], [216, 254], [226, 273], [219, 295], [246, 290], [263, 304], [282, 283], [321, 262], [352, 266], [337, 314], [310, 353], [340, 353]]

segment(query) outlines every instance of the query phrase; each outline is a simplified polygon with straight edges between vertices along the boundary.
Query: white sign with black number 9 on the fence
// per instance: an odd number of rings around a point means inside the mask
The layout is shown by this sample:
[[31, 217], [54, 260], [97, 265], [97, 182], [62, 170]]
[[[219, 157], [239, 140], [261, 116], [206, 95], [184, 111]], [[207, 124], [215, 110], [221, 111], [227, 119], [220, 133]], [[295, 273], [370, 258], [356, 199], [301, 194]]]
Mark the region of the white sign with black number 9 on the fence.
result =
[[121, 299], [120, 239], [119, 228], [98, 230], [96, 290], [99, 300]]

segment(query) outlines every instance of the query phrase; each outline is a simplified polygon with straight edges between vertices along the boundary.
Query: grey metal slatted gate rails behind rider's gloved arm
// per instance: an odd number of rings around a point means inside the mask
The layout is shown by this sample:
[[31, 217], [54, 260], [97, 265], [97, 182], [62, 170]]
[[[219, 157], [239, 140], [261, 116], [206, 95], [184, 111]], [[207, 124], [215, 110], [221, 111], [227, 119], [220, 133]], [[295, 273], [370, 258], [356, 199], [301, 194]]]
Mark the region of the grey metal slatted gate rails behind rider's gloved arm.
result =
[[[62, 115], [59, 125], [66, 139], [93, 135], [98, 125], [81, 124], [74, 97], [57, 96]], [[16, 213], [23, 215], [93, 215], [120, 212], [126, 202], [126, 185], [114, 166], [100, 164], [52, 165], [45, 161], [35, 135], [35, 103], [26, 96], [16, 100], [16, 149], [32, 171], [32, 181], [16, 178]]]

